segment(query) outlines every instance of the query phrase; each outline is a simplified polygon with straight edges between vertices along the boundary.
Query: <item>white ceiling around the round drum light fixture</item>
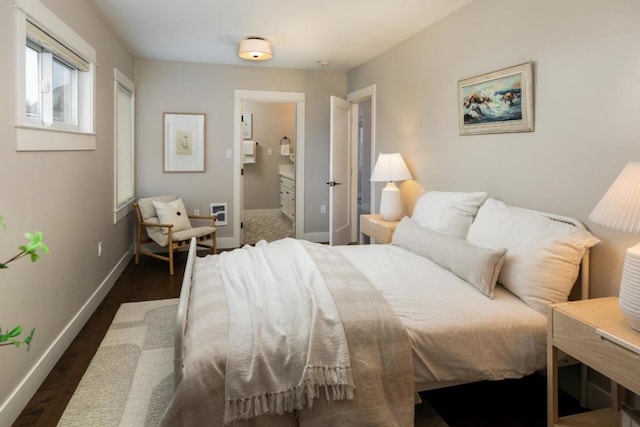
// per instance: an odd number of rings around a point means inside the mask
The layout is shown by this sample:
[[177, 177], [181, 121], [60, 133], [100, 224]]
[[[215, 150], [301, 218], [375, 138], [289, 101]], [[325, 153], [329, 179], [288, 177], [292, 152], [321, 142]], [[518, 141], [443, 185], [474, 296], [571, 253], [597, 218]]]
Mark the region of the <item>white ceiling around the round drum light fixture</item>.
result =
[[[350, 70], [471, 0], [90, 0], [139, 58]], [[263, 37], [273, 58], [238, 57]]]

